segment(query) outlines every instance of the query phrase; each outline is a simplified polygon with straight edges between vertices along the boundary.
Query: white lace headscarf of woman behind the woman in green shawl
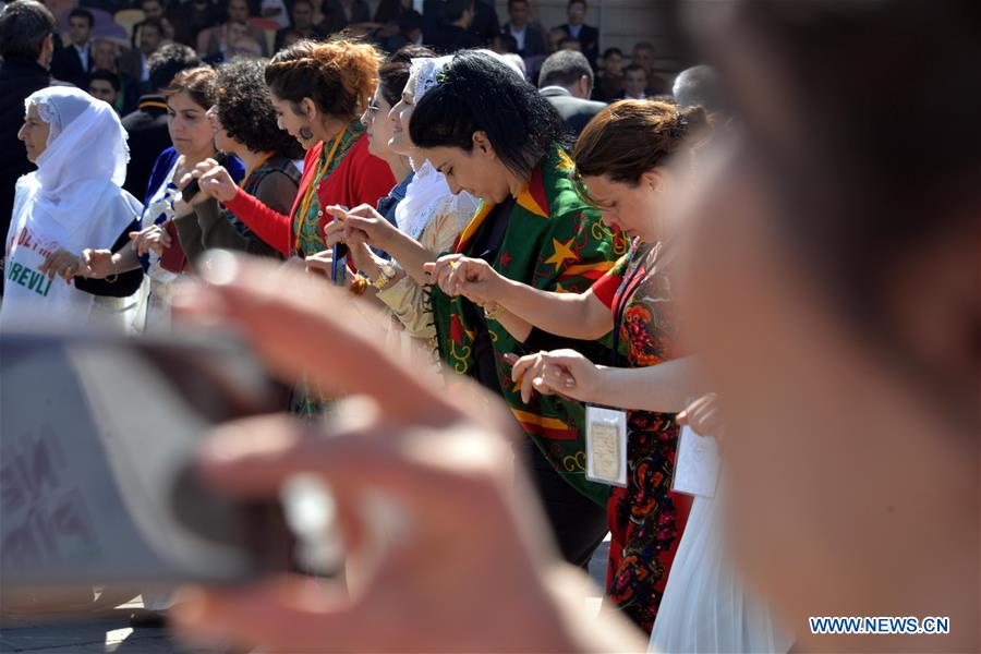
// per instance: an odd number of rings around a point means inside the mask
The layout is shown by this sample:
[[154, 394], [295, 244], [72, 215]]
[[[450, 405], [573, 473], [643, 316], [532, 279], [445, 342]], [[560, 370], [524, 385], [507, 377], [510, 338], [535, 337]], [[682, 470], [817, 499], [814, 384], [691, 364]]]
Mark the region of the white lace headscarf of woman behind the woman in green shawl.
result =
[[[452, 56], [416, 58], [409, 63], [409, 74], [415, 76], [413, 105], [419, 105], [423, 96], [439, 83], [437, 76], [452, 60]], [[411, 118], [409, 120], [412, 121]], [[408, 130], [409, 125], [402, 125], [402, 129]], [[476, 211], [477, 199], [465, 191], [453, 195], [446, 183], [446, 177], [428, 159], [422, 162], [413, 159], [412, 169], [415, 170], [415, 177], [405, 189], [405, 198], [396, 206], [396, 225], [399, 230], [419, 240], [419, 235], [437, 215]]]

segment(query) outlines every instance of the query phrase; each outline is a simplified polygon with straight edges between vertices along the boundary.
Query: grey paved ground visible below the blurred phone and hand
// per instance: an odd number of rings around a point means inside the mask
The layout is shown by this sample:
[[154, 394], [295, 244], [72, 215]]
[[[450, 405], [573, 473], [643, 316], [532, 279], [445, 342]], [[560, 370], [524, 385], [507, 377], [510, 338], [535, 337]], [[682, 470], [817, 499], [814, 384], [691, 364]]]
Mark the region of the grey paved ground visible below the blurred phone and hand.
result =
[[[603, 543], [590, 564], [590, 577], [597, 589], [604, 583], [608, 547], [608, 541]], [[586, 602], [598, 610], [598, 591], [595, 595], [588, 597]], [[140, 602], [123, 605], [112, 611], [112, 615], [76, 622], [4, 620], [0, 623], [0, 653], [194, 654], [174, 643], [166, 629], [130, 627], [130, 614], [141, 606]]]

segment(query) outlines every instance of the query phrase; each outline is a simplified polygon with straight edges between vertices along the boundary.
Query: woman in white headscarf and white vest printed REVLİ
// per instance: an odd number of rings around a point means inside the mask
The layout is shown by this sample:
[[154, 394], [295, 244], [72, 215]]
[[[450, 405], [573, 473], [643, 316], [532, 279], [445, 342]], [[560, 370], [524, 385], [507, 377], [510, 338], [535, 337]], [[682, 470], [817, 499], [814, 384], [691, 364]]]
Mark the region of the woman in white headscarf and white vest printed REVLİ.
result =
[[[122, 190], [129, 148], [116, 111], [75, 87], [52, 86], [24, 101], [17, 137], [37, 170], [17, 180], [0, 325], [92, 322], [124, 326], [123, 298], [142, 271], [101, 281], [75, 277], [85, 247], [119, 249], [143, 206]], [[60, 278], [60, 279], [56, 279]]]

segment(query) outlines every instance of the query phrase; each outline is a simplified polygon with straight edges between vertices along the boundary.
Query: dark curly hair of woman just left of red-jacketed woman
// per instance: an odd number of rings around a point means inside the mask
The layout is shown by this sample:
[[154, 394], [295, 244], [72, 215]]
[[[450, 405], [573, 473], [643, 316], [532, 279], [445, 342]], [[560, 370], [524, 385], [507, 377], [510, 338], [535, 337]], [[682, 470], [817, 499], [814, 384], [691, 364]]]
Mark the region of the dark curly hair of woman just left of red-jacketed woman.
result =
[[265, 61], [246, 58], [218, 69], [218, 122], [229, 136], [253, 152], [300, 159], [300, 143], [276, 124], [276, 107], [266, 86], [265, 71]]

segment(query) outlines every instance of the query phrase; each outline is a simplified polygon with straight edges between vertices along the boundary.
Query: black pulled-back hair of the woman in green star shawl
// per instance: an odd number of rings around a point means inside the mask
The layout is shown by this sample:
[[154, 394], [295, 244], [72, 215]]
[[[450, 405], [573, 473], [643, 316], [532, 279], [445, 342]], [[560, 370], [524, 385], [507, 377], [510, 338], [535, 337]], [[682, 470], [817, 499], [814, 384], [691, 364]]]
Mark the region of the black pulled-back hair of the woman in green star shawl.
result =
[[441, 77], [409, 121], [419, 147], [471, 152], [474, 132], [484, 132], [500, 161], [526, 178], [561, 141], [562, 123], [552, 104], [496, 57], [461, 50]]

